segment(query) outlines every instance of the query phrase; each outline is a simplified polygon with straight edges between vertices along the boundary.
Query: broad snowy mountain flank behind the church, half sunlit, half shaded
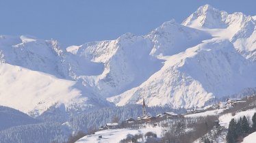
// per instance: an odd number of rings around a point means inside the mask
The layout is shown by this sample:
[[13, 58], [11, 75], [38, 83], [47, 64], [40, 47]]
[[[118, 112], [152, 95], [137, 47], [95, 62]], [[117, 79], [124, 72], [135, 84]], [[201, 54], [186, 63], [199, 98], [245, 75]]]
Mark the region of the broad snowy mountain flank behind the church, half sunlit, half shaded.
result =
[[214, 97], [255, 87], [255, 63], [249, 63], [227, 40], [207, 40], [185, 52], [166, 58], [164, 67], [140, 86], [108, 98], [118, 106], [192, 108]]

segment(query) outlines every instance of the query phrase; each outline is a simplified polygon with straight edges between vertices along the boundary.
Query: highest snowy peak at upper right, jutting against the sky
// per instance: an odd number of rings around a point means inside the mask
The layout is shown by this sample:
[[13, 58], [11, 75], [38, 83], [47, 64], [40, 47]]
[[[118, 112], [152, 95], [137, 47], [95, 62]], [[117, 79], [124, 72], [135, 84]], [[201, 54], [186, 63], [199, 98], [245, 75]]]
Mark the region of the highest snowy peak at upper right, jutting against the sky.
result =
[[255, 16], [246, 16], [241, 12], [228, 14], [210, 5], [199, 7], [182, 22], [182, 25], [201, 30], [218, 29], [223, 31], [222, 37], [228, 37], [235, 48], [246, 59], [256, 59], [256, 27]]

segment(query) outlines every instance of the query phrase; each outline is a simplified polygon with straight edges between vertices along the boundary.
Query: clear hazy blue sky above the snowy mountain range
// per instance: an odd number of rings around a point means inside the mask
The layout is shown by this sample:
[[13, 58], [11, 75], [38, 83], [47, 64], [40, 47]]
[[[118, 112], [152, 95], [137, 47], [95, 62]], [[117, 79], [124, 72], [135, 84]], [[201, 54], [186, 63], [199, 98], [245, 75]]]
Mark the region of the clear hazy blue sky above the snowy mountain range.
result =
[[256, 15], [256, 0], [0, 0], [0, 35], [57, 39], [62, 47], [144, 35], [174, 18], [182, 22], [209, 4], [226, 12]]

